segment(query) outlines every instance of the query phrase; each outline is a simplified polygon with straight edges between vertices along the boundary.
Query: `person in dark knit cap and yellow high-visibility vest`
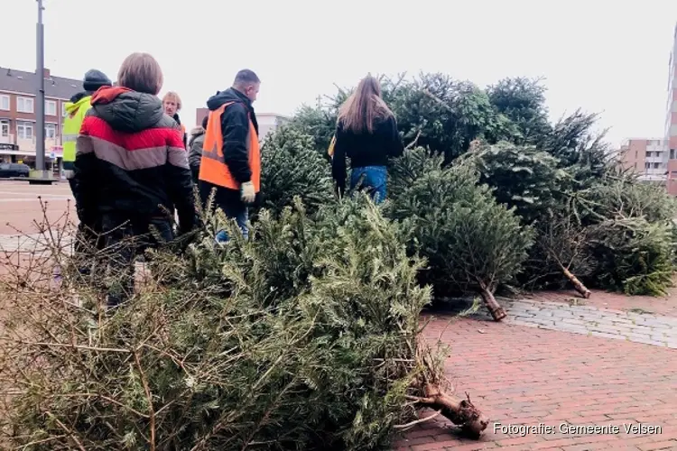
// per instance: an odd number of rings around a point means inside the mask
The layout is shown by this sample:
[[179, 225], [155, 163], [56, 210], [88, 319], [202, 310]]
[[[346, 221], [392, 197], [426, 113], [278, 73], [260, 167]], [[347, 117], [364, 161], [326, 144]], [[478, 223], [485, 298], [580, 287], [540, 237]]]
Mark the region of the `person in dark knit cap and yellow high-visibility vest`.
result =
[[[63, 169], [66, 173], [66, 179], [69, 180], [70, 190], [73, 196], [77, 199], [76, 192], [78, 184], [73, 178], [74, 163], [75, 163], [75, 143], [78, 139], [82, 121], [85, 118], [91, 101], [92, 94], [94, 94], [99, 87], [111, 86], [112, 83], [106, 74], [97, 69], [90, 69], [85, 74], [85, 79], [82, 81], [84, 91], [79, 92], [73, 97], [70, 97], [70, 102], [66, 103], [66, 117], [63, 118]], [[79, 207], [76, 205], [77, 211]], [[80, 218], [81, 220], [82, 218]], [[76, 257], [84, 258], [84, 261], [79, 265], [80, 272], [87, 272], [85, 269], [86, 263], [90, 260], [91, 255], [88, 253], [88, 248], [93, 250], [98, 248], [98, 241], [96, 238], [96, 231], [98, 227], [93, 224], [79, 225], [79, 237], [76, 239], [74, 253]], [[95, 233], [93, 233], [95, 232]]]

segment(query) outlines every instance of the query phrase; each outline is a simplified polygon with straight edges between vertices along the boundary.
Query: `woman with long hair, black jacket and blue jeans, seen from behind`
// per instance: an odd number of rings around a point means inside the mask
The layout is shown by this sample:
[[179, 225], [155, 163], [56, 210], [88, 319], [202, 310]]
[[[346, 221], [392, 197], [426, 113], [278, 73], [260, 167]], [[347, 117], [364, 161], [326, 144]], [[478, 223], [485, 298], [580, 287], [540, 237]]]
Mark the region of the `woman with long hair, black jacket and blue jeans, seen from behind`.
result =
[[332, 175], [339, 194], [346, 188], [346, 157], [352, 174], [350, 189], [366, 189], [380, 203], [385, 199], [388, 159], [403, 153], [393, 112], [381, 97], [381, 86], [371, 75], [363, 78], [338, 111]]

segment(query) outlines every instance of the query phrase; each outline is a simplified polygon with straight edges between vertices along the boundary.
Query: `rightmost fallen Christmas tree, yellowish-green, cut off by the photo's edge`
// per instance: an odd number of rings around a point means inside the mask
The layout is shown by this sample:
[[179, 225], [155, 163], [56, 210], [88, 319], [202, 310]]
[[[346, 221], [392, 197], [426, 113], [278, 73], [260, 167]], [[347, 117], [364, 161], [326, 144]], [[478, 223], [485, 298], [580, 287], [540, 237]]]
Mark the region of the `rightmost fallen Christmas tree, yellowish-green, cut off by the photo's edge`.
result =
[[591, 280], [628, 295], [665, 296], [672, 287], [677, 202], [633, 174], [609, 173], [578, 193]]

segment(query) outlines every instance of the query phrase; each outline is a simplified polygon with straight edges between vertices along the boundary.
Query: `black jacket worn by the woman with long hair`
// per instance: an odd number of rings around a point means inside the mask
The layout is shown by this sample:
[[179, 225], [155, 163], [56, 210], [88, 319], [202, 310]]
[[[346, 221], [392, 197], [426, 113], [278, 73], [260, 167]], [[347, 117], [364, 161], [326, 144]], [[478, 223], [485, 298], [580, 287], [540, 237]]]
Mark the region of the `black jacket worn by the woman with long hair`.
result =
[[331, 161], [331, 172], [338, 189], [345, 189], [347, 156], [350, 159], [350, 168], [355, 169], [385, 166], [390, 157], [399, 157], [403, 151], [402, 138], [393, 116], [379, 120], [375, 124], [374, 133], [353, 133], [344, 130], [343, 124], [339, 122]]

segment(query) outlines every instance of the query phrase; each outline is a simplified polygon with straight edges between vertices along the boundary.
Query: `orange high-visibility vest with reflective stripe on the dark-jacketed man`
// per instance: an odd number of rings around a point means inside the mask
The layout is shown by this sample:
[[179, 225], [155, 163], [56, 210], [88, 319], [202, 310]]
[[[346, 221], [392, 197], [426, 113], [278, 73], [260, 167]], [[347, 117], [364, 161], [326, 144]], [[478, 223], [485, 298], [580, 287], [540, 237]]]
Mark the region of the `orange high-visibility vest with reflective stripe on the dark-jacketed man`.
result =
[[[202, 158], [199, 161], [200, 180], [209, 181], [218, 187], [228, 189], [240, 189], [240, 184], [233, 178], [226, 161], [223, 157], [223, 133], [221, 133], [221, 115], [227, 106], [235, 102], [228, 102], [218, 110], [209, 112], [207, 130], [205, 131], [204, 143], [202, 144]], [[252, 183], [255, 192], [261, 189], [261, 151], [258, 146], [256, 129], [249, 118], [249, 133], [246, 139], [246, 147], [249, 153], [249, 168], [252, 170]]]

